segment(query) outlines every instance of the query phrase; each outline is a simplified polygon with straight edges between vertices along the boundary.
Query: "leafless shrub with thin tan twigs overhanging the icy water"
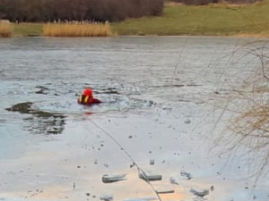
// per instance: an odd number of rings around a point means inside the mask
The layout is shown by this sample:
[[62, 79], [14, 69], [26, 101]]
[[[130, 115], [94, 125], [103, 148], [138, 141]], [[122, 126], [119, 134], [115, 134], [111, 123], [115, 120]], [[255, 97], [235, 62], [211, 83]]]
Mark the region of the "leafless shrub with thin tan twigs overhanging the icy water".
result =
[[247, 164], [257, 179], [269, 167], [269, 46], [266, 42], [251, 43], [245, 54], [256, 60], [256, 66], [242, 84], [225, 97], [222, 113], [229, 113], [228, 128], [215, 142], [234, 155], [247, 155]]

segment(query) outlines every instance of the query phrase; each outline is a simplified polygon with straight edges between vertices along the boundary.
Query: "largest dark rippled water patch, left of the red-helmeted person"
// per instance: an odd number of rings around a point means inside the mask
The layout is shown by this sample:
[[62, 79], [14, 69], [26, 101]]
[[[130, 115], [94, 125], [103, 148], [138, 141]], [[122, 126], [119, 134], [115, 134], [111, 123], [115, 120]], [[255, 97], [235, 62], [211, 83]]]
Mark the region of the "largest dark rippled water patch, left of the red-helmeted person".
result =
[[24, 118], [27, 125], [24, 127], [31, 133], [61, 134], [65, 126], [65, 116], [59, 113], [48, 113], [32, 108], [33, 103], [25, 102], [6, 108], [9, 112], [31, 114]]

